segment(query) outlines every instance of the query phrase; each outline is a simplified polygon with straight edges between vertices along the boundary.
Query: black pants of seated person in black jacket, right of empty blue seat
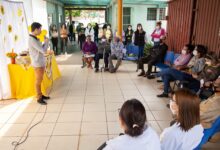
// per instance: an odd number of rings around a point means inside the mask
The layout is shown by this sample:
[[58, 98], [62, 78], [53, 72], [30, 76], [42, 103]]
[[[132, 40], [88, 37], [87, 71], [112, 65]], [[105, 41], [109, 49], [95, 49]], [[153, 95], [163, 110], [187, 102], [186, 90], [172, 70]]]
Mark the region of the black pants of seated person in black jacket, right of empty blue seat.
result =
[[152, 72], [152, 67], [158, 62], [156, 58], [152, 58], [150, 55], [146, 57], [141, 57], [138, 60], [138, 69], [141, 69], [144, 71], [144, 64], [148, 64], [148, 70], [147, 70], [147, 75], [150, 75]]

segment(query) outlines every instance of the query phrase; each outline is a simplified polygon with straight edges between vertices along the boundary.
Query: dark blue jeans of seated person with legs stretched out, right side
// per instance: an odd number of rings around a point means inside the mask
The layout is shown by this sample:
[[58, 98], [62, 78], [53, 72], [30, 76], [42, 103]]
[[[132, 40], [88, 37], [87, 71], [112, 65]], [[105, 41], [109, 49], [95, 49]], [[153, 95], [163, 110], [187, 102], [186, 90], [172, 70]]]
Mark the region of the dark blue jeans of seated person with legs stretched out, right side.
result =
[[194, 79], [192, 75], [187, 74], [185, 72], [181, 72], [179, 70], [168, 68], [162, 71], [162, 80], [164, 83], [164, 93], [168, 94], [170, 89], [171, 81], [188, 81], [188, 86], [191, 91], [197, 92], [200, 89], [200, 82], [197, 79]]

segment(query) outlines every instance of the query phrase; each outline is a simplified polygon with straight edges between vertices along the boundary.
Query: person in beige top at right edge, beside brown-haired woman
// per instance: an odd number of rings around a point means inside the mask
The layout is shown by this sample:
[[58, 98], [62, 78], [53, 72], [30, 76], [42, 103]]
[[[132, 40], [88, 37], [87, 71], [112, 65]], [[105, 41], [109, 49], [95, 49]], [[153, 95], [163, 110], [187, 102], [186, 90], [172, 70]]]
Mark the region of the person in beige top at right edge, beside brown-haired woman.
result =
[[[200, 119], [204, 128], [210, 128], [220, 116], [220, 77], [212, 83], [215, 94], [200, 103]], [[220, 141], [220, 133], [211, 138], [211, 142]]]

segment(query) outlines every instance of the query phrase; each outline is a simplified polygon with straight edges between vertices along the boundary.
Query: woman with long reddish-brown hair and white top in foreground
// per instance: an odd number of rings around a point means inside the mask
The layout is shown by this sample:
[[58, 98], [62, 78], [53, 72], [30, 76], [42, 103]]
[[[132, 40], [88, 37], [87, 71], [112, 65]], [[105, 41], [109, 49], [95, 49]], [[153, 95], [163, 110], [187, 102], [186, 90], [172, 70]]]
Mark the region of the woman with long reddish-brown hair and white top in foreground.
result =
[[175, 92], [170, 106], [177, 122], [162, 132], [162, 150], [193, 150], [199, 145], [203, 137], [199, 103], [199, 97], [189, 90]]

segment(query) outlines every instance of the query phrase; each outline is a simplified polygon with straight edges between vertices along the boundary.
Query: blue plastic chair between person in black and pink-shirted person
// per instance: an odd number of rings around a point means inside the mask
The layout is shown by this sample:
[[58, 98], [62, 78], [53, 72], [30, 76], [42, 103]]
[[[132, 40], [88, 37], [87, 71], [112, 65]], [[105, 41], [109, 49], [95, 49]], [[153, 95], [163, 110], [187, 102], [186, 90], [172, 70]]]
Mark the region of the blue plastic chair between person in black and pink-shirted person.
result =
[[[174, 56], [175, 55], [174, 55], [173, 51], [168, 51], [165, 55], [164, 62], [169, 62], [172, 65], [174, 63]], [[157, 68], [159, 68], [160, 70], [163, 70], [163, 69], [170, 67], [169, 65], [166, 65], [164, 63], [157, 63], [157, 64], [155, 64], [155, 66]]]

